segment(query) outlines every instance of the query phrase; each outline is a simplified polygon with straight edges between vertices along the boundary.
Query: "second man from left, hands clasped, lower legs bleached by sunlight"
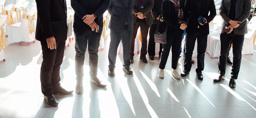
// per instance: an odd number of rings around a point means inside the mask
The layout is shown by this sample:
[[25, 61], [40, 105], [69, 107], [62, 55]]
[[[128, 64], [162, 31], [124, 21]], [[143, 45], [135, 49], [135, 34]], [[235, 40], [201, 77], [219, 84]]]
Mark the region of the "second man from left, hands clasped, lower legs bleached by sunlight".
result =
[[71, 0], [74, 14], [76, 93], [83, 93], [84, 59], [88, 44], [91, 83], [105, 88], [97, 78], [98, 47], [103, 29], [103, 13], [109, 0]]

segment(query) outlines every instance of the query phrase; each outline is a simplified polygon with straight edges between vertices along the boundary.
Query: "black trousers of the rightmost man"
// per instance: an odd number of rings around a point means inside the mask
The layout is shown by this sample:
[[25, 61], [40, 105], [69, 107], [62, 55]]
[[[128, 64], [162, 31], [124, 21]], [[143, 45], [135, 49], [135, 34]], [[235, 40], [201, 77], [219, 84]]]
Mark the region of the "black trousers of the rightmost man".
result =
[[237, 79], [242, 59], [242, 48], [244, 43], [244, 35], [235, 35], [233, 32], [221, 34], [221, 54], [219, 58], [219, 70], [225, 75], [227, 52], [230, 43], [233, 44], [233, 65], [231, 70], [231, 78]]

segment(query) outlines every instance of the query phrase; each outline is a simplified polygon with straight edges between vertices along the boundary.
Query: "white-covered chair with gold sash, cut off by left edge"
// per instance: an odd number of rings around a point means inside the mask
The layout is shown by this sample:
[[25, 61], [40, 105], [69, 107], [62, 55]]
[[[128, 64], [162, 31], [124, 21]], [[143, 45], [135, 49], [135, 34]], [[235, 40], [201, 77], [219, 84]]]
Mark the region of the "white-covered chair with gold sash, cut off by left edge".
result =
[[5, 48], [6, 45], [6, 39], [5, 39], [5, 18], [0, 18], [0, 60], [5, 61], [3, 48]]

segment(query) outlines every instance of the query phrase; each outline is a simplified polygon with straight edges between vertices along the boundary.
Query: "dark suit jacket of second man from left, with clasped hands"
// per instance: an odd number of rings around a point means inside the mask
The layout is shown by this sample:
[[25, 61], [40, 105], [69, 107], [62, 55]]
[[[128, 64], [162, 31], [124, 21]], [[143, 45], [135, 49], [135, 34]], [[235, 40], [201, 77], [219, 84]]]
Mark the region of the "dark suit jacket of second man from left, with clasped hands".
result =
[[71, 0], [71, 6], [75, 11], [74, 25], [75, 29], [91, 29], [91, 27], [83, 22], [85, 15], [95, 14], [96, 24], [103, 28], [103, 13], [109, 6], [109, 0]]

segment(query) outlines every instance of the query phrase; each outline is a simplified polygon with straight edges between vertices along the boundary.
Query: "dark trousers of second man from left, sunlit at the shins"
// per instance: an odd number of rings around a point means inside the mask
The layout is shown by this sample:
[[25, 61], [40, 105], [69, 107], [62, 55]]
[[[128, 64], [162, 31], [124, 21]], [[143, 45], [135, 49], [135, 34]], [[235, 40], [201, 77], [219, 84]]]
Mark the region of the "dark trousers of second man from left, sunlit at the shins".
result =
[[84, 77], [84, 60], [85, 51], [88, 44], [89, 52], [89, 67], [90, 67], [90, 77], [95, 79], [97, 76], [98, 67], [98, 47], [101, 36], [102, 29], [99, 33], [92, 31], [92, 29], [75, 29], [75, 73], [76, 80], [82, 81]]

